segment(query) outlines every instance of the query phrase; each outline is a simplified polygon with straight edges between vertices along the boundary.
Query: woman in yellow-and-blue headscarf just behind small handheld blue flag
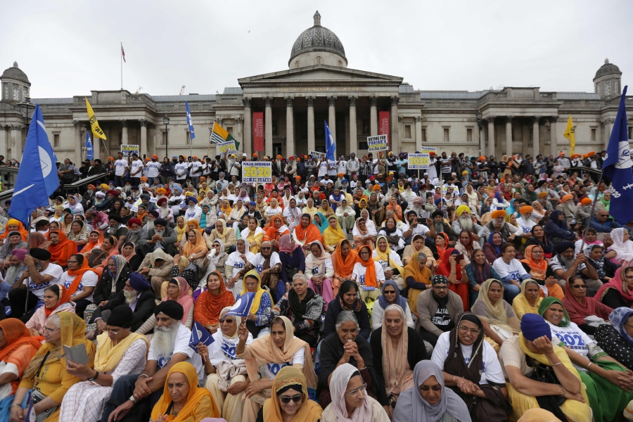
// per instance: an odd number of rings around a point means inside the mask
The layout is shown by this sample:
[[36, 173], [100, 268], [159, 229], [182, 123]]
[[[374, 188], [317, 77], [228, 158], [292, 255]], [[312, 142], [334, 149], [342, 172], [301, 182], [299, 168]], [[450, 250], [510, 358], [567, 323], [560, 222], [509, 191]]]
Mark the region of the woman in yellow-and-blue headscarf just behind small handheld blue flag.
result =
[[260, 274], [254, 269], [244, 276], [242, 291], [237, 295], [236, 301], [245, 293], [255, 293], [250, 312], [246, 317], [246, 327], [253, 338], [260, 338], [270, 333], [270, 320], [272, 311], [272, 298], [268, 290], [262, 288]]

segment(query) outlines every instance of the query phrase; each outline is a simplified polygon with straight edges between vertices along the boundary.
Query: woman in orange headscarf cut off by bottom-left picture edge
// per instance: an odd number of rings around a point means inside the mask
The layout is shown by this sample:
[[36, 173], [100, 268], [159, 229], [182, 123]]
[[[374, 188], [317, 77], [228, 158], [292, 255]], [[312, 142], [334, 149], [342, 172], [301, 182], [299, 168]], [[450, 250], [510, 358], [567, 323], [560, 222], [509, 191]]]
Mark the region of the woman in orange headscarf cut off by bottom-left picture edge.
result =
[[8, 318], [0, 321], [0, 400], [15, 394], [31, 359], [44, 340], [31, 335], [22, 321]]

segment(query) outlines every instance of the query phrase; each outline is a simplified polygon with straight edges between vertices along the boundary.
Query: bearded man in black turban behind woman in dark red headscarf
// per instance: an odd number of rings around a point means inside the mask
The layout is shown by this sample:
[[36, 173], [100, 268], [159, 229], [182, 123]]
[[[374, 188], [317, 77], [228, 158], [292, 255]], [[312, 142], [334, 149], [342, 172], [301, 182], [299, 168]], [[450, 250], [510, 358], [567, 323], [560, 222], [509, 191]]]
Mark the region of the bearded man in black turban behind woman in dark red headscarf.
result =
[[[584, 253], [575, 255], [573, 242], [559, 242], [554, 246], [556, 255], [551, 258], [549, 267], [554, 271], [558, 284], [564, 289], [565, 283], [571, 276], [581, 276], [588, 289], [598, 290], [602, 286], [600, 276], [592, 265], [587, 264]], [[587, 292], [589, 295], [589, 292]]]

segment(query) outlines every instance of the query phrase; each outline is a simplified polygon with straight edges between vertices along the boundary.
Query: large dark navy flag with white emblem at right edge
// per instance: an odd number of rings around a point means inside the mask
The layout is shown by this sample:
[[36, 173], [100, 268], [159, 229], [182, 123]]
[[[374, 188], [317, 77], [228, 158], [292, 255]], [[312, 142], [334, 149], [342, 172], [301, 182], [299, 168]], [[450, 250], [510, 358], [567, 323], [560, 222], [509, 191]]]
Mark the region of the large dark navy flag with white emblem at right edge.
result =
[[602, 165], [604, 175], [611, 181], [609, 214], [620, 224], [627, 224], [633, 219], [629, 214], [633, 210], [633, 162], [629, 154], [626, 95], [627, 87], [624, 87]]

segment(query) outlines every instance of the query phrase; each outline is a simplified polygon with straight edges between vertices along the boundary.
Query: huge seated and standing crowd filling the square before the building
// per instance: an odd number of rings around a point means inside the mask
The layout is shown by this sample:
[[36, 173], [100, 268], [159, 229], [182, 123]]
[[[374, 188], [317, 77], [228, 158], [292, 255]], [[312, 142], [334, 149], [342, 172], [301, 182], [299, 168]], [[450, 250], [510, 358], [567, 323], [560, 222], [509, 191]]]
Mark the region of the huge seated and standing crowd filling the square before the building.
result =
[[264, 156], [260, 184], [257, 154], [66, 159], [59, 193], [101, 180], [30, 227], [0, 208], [0, 415], [633, 420], [633, 241], [603, 156]]

